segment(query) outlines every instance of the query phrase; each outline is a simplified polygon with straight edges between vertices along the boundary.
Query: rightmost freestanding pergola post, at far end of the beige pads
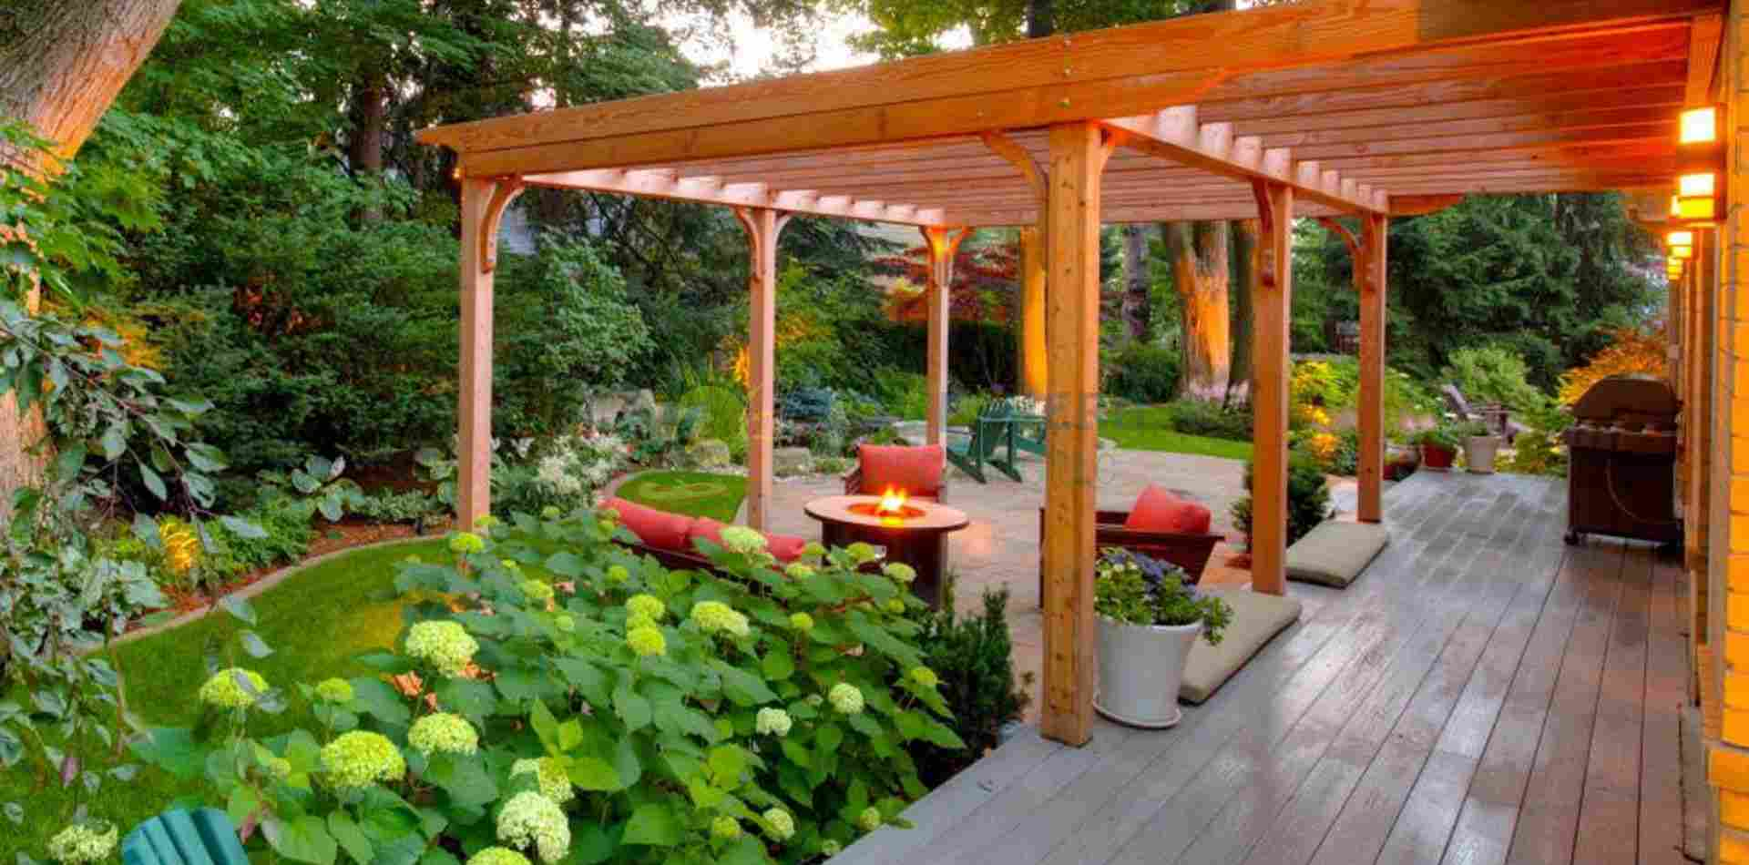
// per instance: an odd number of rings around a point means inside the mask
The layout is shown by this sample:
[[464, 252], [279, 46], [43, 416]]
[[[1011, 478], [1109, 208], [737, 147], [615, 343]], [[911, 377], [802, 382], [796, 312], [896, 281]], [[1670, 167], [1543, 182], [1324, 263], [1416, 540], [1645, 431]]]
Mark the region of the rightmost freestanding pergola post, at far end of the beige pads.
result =
[[1385, 248], [1390, 220], [1361, 217], [1354, 288], [1361, 295], [1361, 522], [1383, 519], [1385, 491]]

